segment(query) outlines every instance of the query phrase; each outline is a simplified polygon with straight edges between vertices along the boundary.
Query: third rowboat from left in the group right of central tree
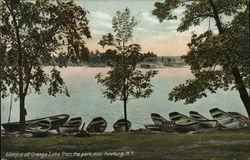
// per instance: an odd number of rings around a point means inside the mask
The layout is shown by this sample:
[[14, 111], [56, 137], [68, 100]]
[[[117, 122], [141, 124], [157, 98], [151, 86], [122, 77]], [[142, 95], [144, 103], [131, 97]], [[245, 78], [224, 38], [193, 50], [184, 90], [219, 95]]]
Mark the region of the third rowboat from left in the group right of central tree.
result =
[[199, 129], [211, 129], [211, 128], [216, 129], [219, 127], [219, 123], [217, 120], [209, 120], [206, 117], [200, 115], [196, 111], [190, 111], [189, 115], [193, 119], [199, 121]]

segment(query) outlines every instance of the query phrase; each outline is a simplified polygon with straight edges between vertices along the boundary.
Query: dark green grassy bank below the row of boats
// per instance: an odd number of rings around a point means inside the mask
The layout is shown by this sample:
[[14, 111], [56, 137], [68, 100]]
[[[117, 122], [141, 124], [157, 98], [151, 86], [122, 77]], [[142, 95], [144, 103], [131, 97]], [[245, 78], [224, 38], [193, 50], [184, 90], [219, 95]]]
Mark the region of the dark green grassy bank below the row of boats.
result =
[[[202, 134], [105, 133], [92, 135], [91, 137], [3, 137], [1, 140], [1, 155], [8, 160], [39, 158], [14, 158], [13, 155], [6, 157], [6, 152], [59, 153], [61, 154], [60, 158], [45, 156], [43, 159], [67, 160], [250, 159], [250, 130], [217, 131]], [[97, 155], [80, 157], [80, 154], [87, 154], [88, 152]], [[100, 156], [103, 152], [110, 155]], [[125, 155], [112, 156], [114, 152]]]

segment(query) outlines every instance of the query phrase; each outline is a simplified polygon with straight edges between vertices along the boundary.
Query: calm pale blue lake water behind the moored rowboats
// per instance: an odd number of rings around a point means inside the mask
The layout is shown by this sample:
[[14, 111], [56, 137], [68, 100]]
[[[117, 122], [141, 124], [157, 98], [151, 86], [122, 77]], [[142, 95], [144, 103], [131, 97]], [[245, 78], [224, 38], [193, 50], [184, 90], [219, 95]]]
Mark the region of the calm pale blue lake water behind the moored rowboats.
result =
[[[97, 116], [104, 117], [108, 122], [107, 130], [112, 130], [113, 123], [123, 117], [123, 104], [120, 101], [110, 103], [103, 97], [103, 87], [96, 83], [95, 75], [106, 73], [109, 68], [68, 67], [61, 69], [62, 76], [70, 91], [71, 97], [58, 95], [48, 96], [45, 88], [41, 95], [30, 94], [26, 98], [27, 119], [39, 118], [55, 114], [67, 113], [71, 117], [81, 116], [86, 125]], [[154, 92], [147, 99], [131, 100], [128, 103], [128, 119], [132, 122], [132, 128], [141, 128], [143, 124], [152, 123], [150, 113], [160, 113], [165, 118], [168, 114], [178, 111], [188, 114], [190, 110], [196, 110], [204, 116], [211, 118], [209, 109], [218, 107], [225, 111], [237, 111], [246, 115], [244, 106], [237, 91], [224, 92], [209, 95], [191, 105], [181, 102], [168, 101], [168, 93], [179, 83], [191, 78], [189, 68], [160, 68], [159, 74], [153, 78]], [[2, 102], [1, 120], [7, 122], [10, 98]], [[18, 102], [13, 103], [11, 121], [18, 121]], [[85, 126], [86, 126], [85, 125]]]

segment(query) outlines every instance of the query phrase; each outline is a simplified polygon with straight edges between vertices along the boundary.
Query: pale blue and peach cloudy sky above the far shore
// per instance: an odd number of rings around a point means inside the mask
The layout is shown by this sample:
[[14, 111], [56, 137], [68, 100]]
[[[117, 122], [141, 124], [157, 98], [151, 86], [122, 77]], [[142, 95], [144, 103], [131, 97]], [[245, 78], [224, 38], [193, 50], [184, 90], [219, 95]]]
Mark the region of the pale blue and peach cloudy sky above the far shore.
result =
[[[89, 11], [87, 17], [90, 20], [92, 39], [86, 40], [87, 47], [91, 51], [104, 51], [98, 42], [102, 35], [113, 33], [112, 18], [116, 12], [128, 7], [138, 23], [134, 28], [132, 42], [140, 44], [143, 52], [151, 51], [158, 56], [186, 54], [191, 32], [200, 33], [208, 29], [208, 20], [200, 26], [190, 27], [188, 31], [177, 32], [180, 19], [160, 23], [157, 17], [152, 15], [156, 1], [161, 0], [76, 0], [78, 5]], [[183, 11], [183, 8], [178, 8], [175, 13], [181, 16]]]

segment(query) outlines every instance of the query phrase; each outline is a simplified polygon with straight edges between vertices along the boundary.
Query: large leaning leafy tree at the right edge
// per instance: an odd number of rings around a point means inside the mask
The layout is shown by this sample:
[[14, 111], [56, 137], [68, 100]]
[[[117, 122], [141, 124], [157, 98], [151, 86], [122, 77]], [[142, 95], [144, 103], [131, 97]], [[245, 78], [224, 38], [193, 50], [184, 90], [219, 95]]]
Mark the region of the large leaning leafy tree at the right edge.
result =
[[[218, 88], [236, 89], [250, 117], [249, 88], [249, 2], [247, 0], [224, 1], [203, 0], [184, 2], [172, 0], [156, 2], [153, 14], [160, 21], [177, 19], [173, 10], [185, 8], [178, 31], [183, 32], [192, 25], [199, 25], [207, 18], [215, 21], [218, 33], [208, 29], [203, 34], [193, 34], [184, 56], [191, 65], [194, 79], [175, 87], [170, 100], [185, 100], [193, 103], [206, 97], [207, 91], [216, 93]], [[230, 18], [223, 18], [223, 17]]]

